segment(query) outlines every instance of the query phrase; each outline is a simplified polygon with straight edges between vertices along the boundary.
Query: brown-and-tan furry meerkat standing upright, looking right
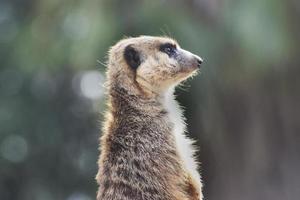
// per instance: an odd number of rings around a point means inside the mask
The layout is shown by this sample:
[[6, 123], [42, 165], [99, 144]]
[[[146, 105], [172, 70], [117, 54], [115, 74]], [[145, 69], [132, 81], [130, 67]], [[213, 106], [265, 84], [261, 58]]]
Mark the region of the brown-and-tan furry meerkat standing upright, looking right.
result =
[[111, 47], [97, 200], [203, 198], [193, 141], [173, 95], [201, 63], [168, 37], [126, 38]]

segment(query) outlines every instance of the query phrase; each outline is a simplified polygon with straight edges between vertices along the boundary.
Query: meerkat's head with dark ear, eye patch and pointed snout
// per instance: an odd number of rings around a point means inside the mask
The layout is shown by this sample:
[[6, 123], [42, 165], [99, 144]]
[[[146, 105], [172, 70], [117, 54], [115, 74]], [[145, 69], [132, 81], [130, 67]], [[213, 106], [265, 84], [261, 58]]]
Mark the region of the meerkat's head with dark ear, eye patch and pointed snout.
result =
[[131, 91], [161, 94], [192, 76], [201, 63], [173, 39], [127, 38], [109, 52], [108, 78]]

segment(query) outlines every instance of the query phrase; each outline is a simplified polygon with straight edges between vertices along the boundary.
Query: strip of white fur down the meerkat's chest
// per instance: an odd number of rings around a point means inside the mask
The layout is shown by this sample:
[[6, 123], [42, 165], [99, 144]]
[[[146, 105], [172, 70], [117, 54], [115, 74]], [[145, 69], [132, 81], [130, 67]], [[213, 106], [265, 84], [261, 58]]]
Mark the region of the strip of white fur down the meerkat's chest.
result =
[[185, 169], [196, 179], [200, 181], [197, 162], [194, 158], [195, 150], [193, 148], [194, 141], [185, 135], [186, 124], [182, 115], [180, 106], [174, 99], [173, 95], [166, 98], [164, 103], [168, 112], [167, 119], [172, 123], [172, 134], [176, 142], [176, 149], [180, 159], [183, 161]]

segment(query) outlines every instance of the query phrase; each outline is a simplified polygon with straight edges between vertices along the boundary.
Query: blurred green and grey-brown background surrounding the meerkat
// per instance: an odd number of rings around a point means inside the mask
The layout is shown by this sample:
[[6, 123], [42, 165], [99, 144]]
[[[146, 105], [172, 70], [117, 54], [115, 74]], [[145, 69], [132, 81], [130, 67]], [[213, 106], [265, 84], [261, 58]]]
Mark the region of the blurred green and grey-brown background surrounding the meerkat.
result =
[[[0, 1], [0, 199], [93, 200], [106, 52], [170, 35], [210, 200], [300, 197], [298, 0]], [[99, 62], [97, 62], [99, 60]]]

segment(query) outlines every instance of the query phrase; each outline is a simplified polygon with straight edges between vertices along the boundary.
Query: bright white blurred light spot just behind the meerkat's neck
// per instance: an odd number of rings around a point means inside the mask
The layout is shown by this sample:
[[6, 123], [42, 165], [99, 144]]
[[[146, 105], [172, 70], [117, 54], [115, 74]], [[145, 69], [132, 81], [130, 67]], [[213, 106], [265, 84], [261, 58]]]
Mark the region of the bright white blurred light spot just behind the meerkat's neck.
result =
[[104, 76], [96, 70], [80, 72], [73, 79], [73, 88], [77, 93], [91, 100], [98, 100], [103, 96]]

